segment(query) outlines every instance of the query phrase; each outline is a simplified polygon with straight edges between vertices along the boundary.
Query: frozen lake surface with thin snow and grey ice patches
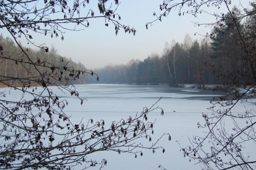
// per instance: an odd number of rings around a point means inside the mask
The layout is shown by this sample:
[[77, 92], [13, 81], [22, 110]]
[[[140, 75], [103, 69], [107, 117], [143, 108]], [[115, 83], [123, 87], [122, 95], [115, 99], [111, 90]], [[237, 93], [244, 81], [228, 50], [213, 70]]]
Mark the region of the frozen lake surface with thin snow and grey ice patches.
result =
[[[3, 90], [7, 88], [2, 88]], [[155, 170], [161, 164], [168, 170], [173, 169], [190, 169], [199, 170], [200, 165], [196, 162], [189, 161], [187, 157], [183, 157], [180, 151], [181, 145], [189, 145], [188, 137], [193, 135], [204, 135], [202, 130], [197, 128], [197, 123], [204, 122], [202, 112], [211, 114], [207, 108], [211, 106], [210, 100], [213, 97], [223, 96], [225, 92], [213, 92], [198, 89], [172, 88], [168, 86], [146, 86], [146, 85], [76, 85], [76, 90], [79, 92], [79, 97], [86, 98], [88, 101], [81, 106], [80, 101], [76, 97], [71, 97], [70, 94], [63, 94], [56, 87], [50, 87], [59, 97], [67, 99], [69, 104], [65, 107], [65, 113], [71, 116], [73, 121], [87, 122], [92, 118], [95, 122], [103, 119], [106, 124], [111, 125], [111, 122], [127, 119], [129, 116], [134, 116], [137, 112], [143, 111], [143, 107], [150, 107], [152, 104], [162, 97], [156, 104], [164, 110], [164, 116], [161, 116], [161, 111], [150, 112], [148, 118], [150, 121], [156, 119], [154, 124], [154, 135], [152, 142], [164, 133], [170, 133], [171, 141], [168, 141], [168, 136], [161, 139], [159, 146], [165, 148], [165, 153], [162, 150], [143, 151], [143, 156], [134, 154], [103, 151], [91, 155], [87, 159], [102, 158], [107, 159], [107, 166], [103, 169], [121, 169], [135, 170], [147, 169]], [[12, 90], [7, 98], [17, 97], [17, 91]], [[243, 106], [237, 107], [237, 111], [243, 111]], [[105, 125], [107, 127], [107, 125]], [[79, 167], [77, 167], [79, 169]], [[99, 167], [95, 167], [98, 169]]]

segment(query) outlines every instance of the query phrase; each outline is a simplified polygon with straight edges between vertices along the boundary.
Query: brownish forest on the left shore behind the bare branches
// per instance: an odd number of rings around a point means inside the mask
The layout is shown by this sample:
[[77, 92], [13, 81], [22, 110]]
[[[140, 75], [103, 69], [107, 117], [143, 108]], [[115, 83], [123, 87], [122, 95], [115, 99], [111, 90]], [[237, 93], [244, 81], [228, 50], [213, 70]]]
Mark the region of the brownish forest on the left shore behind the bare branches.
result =
[[[24, 53], [21, 52], [20, 48], [14, 43], [14, 41], [6, 37], [4, 38], [3, 34], [0, 34], [0, 47], [2, 52], [5, 52], [5, 54], [8, 54], [9, 59], [0, 59], [0, 75], [3, 75], [5, 80], [12, 79], [13, 77], [15, 78], [27, 78], [30, 73], [35, 73], [33, 74], [34, 77], [40, 76], [38, 72], [35, 71], [35, 67], [29, 66], [29, 61], [24, 57]], [[83, 70], [85, 71], [86, 68], [82, 63], [76, 63], [72, 61], [71, 58], [66, 58], [62, 57], [61, 55], [58, 54], [58, 50], [55, 48], [54, 45], [50, 48], [50, 50], [33, 50], [31, 48], [26, 48], [26, 52], [29, 54], [30, 59], [38, 64], [43, 64], [45, 67], [40, 67], [41, 72], [52, 72], [55, 73], [55, 67], [65, 67], [66, 69], [72, 68], [73, 70]], [[12, 56], [17, 56], [17, 59], [20, 60], [21, 62], [18, 62], [17, 60], [13, 59]], [[27, 60], [27, 61], [26, 61]], [[21, 64], [25, 66], [21, 66]], [[28, 69], [25, 69], [28, 68]], [[59, 73], [56, 73], [56, 75]], [[73, 77], [74, 75], [66, 75], [65, 72], [62, 72], [61, 75], [59, 76], [59, 80], [63, 80], [65, 78]], [[74, 84], [83, 84], [85, 83], [85, 76], [88, 76], [86, 74], [81, 74], [80, 77], [78, 78], [73, 78], [70, 80], [71, 83]], [[63, 78], [63, 79], [62, 79]], [[16, 79], [15, 81], [9, 80], [14, 85], [20, 85], [18, 80]], [[14, 81], [14, 82], [13, 82]], [[57, 82], [57, 80], [50, 80], [52, 83]], [[8, 81], [5, 81], [8, 82]]]

